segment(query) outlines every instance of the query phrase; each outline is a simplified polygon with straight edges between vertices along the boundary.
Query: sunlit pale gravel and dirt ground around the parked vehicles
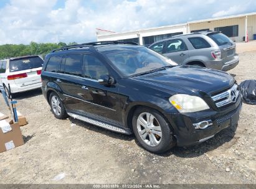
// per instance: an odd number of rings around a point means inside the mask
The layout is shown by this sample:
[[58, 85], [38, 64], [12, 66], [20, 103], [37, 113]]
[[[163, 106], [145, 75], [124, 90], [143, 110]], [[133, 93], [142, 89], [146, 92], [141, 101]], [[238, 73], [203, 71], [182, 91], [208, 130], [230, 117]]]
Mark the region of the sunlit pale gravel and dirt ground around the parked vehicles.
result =
[[[255, 79], [256, 51], [240, 53], [229, 73], [239, 83]], [[256, 183], [256, 106], [243, 105], [237, 128], [154, 155], [134, 136], [55, 119], [39, 90], [17, 99], [29, 121], [21, 128], [26, 144], [0, 154], [0, 183]]]

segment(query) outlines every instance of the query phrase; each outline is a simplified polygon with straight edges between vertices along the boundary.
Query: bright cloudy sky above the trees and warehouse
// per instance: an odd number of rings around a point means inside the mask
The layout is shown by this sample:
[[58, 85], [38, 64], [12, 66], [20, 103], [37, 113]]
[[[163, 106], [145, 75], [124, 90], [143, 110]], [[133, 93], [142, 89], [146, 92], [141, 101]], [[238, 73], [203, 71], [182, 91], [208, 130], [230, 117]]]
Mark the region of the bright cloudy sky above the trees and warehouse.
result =
[[255, 0], [0, 0], [0, 44], [89, 42], [114, 32], [256, 12]]

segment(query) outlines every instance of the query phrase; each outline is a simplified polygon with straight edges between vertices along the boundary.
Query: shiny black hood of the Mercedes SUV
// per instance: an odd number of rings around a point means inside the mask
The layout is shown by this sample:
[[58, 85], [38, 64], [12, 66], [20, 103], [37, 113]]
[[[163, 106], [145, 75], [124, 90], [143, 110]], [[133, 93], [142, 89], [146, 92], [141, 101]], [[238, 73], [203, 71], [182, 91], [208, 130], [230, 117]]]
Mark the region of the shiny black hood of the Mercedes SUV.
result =
[[172, 91], [176, 88], [179, 93], [184, 91], [212, 94], [225, 90], [234, 83], [234, 78], [224, 71], [187, 65], [135, 76], [133, 79]]

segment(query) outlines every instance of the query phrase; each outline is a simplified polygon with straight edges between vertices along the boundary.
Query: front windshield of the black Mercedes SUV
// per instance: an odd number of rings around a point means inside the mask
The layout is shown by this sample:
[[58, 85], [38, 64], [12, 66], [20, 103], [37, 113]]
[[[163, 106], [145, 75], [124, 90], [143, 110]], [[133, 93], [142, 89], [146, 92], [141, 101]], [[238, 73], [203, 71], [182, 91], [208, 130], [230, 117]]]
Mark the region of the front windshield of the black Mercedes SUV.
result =
[[123, 46], [102, 52], [126, 76], [137, 75], [162, 67], [176, 66], [177, 63], [163, 57], [149, 48]]

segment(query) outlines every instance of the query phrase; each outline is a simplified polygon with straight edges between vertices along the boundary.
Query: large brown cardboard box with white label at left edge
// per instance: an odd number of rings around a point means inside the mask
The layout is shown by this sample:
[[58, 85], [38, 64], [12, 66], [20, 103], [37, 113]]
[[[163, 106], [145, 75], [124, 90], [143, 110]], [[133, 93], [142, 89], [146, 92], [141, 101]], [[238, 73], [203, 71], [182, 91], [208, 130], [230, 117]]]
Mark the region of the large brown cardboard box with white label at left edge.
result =
[[0, 153], [23, 145], [23, 137], [19, 123], [14, 123], [11, 119], [0, 121]]

